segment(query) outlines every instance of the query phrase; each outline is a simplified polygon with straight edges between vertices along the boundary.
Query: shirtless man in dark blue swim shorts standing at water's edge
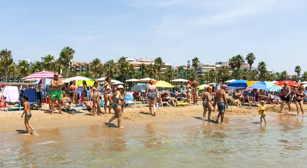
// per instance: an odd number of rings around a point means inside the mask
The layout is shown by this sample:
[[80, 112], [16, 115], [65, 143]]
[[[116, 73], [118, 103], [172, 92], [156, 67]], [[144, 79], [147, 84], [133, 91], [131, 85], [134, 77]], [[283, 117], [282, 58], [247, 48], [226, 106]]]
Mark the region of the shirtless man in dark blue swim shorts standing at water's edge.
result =
[[[213, 103], [213, 107], [215, 106], [215, 104], [217, 104], [217, 109], [218, 109], [218, 115], [217, 115], [217, 122], [218, 122], [218, 118], [220, 118], [221, 116], [221, 124], [225, 124], [223, 122], [224, 120], [224, 113], [226, 108], [228, 109], [228, 103], [227, 103], [227, 97], [226, 97], [226, 85], [222, 85], [221, 89], [218, 90], [216, 92], [215, 98], [214, 98], [214, 103]], [[225, 108], [226, 106], [226, 108]]]

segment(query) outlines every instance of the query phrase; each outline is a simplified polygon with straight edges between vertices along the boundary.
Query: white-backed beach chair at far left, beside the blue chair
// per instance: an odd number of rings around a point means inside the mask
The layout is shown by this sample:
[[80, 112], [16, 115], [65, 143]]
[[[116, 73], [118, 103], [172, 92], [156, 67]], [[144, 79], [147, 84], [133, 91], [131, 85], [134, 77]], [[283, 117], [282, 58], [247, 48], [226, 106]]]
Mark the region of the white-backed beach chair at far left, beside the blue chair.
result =
[[19, 110], [21, 110], [21, 108], [20, 108], [21, 99], [19, 99], [19, 93], [18, 93], [17, 87], [6, 86], [3, 90], [3, 98], [4, 98], [4, 101], [5, 101], [5, 107], [6, 107], [6, 109], [4, 109], [4, 110], [7, 110], [9, 103], [18, 103], [19, 104]]

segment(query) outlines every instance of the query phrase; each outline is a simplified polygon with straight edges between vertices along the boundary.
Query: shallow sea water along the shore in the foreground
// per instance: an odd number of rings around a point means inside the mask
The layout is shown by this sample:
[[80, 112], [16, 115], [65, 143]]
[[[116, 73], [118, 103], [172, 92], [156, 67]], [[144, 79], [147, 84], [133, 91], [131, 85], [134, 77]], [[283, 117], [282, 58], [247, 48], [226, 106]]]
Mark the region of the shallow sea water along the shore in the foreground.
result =
[[220, 125], [195, 117], [123, 130], [97, 125], [39, 136], [2, 133], [0, 167], [306, 167], [307, 118], [267, 120], [226, 118]]

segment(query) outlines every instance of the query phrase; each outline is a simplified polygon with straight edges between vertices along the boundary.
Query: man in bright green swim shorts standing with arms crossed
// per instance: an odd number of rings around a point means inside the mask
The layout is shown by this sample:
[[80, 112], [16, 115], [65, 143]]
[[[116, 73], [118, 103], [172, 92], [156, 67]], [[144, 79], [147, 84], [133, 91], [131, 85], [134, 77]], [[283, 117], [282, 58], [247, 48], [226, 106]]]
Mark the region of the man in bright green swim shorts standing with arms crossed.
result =
[[62, 98], [62, 87], [64, 86], [64, 83], [62, 82], [61, 79], [59, 79], [59, 74], [58, 73], [54, 73], [54, 78], [51, 79], [51, 90], [49, 91], [51, 94], [51, 114], [53, 114], [54, 111], [54, 104], [55, 104], [55, 100], [58, 100], [58, 104], [59, 104], [59, 113], [62, 114], [62, 103], [61, 98]]

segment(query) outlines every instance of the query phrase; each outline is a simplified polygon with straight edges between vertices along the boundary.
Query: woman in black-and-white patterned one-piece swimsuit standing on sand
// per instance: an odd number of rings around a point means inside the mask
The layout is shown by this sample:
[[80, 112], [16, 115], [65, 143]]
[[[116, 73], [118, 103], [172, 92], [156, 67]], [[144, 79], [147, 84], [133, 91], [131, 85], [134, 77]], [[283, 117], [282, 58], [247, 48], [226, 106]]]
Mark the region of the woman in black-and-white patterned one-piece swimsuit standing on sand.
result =
[[155, 85], [153, 85], [153, 80], [150, 79], [149, 80], [149, 85], [146, 88], [145, 96], [146, 96], [146, 99], [148, 101], [149, 111], [150, 111], [151, 115], [152, 115], [151, 104], [153, 106], [153, 116], [156, 116], [156, 99], [157, 99], [157, 95], [158, 95], [157, 88], [156, 88]]

